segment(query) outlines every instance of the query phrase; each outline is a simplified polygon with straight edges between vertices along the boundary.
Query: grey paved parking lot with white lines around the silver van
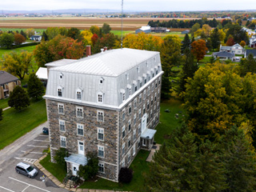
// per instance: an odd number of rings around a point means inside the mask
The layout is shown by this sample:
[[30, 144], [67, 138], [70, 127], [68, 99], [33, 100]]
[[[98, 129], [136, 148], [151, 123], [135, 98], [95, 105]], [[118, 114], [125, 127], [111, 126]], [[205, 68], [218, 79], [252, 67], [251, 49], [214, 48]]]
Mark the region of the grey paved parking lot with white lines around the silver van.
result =
[[[26, 162], [33, 165], [33, 163], [42, 157], [49, 146], [48, 135], [39, 134], [26, 142], [15, 150], [0, 164], [0, 191], [1, 192], [58, 192], [68, 191], [59, 188], [46, 175], [43, 175], [38, 170], [38, 175], [35, 178], [28, 178], [23, 174], [18, 174], [15, 171], [15, 166], [18, 162]], [[44, 178], [44, 182], [42, 181]]]

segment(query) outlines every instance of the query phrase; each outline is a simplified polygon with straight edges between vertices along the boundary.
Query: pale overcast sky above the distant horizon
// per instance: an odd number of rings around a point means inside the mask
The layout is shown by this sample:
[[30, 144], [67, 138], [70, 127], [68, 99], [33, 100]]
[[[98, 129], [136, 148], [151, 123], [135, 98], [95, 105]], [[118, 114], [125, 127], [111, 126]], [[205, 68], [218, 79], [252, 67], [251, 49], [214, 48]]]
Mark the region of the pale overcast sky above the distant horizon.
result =
[[[1, 10], [120, 10], [121, 0], [0, 0]], [[255, 0], [124, 0], [124, 11], [256, 10]]]

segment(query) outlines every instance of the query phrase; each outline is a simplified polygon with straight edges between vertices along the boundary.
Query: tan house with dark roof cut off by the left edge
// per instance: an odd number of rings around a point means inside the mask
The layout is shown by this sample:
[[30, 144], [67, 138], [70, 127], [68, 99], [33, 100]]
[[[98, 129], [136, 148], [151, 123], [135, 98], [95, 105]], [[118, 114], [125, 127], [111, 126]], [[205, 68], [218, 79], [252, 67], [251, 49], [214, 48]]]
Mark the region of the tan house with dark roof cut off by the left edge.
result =
[[13, 91], [15, 86], [21, 86], [18, 78], [4, 70], [0, 70], [0, 99], [8, 98], [10, 91]]

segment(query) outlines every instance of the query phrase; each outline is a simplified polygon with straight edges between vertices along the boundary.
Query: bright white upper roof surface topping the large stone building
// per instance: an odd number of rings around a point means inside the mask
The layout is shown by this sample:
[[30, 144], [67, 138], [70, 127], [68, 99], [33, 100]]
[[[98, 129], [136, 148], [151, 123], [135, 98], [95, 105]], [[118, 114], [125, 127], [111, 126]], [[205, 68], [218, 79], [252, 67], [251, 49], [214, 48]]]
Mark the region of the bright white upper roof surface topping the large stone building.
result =
[[106, 50], [102, 53], [72, 62], [70, 65], [54, 67], [50, 70], [117, 77], [157, 54], [158, 52], [156, 51], [128, 48]]

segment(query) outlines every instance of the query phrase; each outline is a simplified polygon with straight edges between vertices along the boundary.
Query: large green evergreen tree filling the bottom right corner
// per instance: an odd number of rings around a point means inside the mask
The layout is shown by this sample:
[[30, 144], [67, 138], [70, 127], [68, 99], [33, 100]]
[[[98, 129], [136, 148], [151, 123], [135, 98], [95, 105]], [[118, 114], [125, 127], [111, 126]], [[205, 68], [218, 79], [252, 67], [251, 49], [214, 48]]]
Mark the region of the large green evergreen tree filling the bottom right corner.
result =
[[220, 146], [223, 150], [222, 161], [226, 166], [226, 191], [255, 191], [255, 151], [244, 131], [237, 126], [227, 130]]

